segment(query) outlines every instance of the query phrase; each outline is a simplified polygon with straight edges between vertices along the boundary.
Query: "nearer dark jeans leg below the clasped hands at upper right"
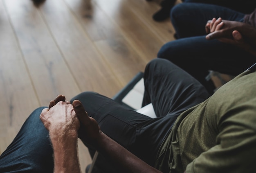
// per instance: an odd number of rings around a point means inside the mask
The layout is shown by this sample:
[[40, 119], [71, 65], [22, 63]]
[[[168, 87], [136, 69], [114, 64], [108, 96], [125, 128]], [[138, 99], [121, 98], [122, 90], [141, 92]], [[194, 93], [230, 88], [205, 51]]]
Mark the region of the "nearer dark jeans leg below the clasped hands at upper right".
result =
[[214, 86], [205, 80], [209, 70], [236, 76], [255, 62], [253, 55], [218, 40], [208, 41], [205, 36], [168, 42], [159, 50], [157, 57], [168, 59], [191, 74], [210, 94]]

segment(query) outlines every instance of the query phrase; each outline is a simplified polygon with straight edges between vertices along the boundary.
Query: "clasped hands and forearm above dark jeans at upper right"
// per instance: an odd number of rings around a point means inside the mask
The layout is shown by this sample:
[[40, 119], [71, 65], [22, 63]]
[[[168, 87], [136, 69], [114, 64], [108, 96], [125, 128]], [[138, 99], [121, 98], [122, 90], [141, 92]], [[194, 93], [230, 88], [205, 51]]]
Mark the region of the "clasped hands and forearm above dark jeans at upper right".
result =
[[256, 28], [249, 24], [213, 18], [205, 26], [206, 39], [234, 44], [256, 56]]

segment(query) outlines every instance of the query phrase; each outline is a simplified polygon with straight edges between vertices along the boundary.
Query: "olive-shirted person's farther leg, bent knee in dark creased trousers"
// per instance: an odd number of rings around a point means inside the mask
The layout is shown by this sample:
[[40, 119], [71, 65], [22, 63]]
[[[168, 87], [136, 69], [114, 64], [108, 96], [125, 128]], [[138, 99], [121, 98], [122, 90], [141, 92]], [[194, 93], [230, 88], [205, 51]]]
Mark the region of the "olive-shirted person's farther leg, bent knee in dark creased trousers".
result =
[[177, 118], [209, 97], [201, 83], [166, 59], [154, 59], [146, 66], [144, 83], [143, 105], [152, 103], [157, 117]]

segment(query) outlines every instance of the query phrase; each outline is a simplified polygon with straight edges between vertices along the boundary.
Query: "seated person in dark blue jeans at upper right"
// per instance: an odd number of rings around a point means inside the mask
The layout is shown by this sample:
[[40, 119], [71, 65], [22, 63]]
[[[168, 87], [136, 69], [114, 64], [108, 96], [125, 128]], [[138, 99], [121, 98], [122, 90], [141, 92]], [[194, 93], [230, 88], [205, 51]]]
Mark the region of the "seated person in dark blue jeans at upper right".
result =
[[[236, 76], [255, 62], [256, 55], [252, 52], [256, 50], [256, 44], [250, 40], [255, 39], [256, 9], [246, 15], [211, 4], [182, 3], [174, 7], [171, 17], [180, 39], [164, 44], [157, 57], [168, 59], [189, 72], [207, 88], [209, 94], [213, 94], [215, 90], [213, 83], [205, 79], [209, 70]], [[234, 43], [223, 42], [223, 39], [206, 39], [205, 35], [209, 33], [205, 29], [207, 21], [216, 17], [216, 22], [225, 21], [222, 26], [224, 30], [227, 21], [234, 21], [229, 22], [232, 25], [230, 28], [236, 29], [236, 26], [239, 26], [239, 30], [249, 29], [249, 32], [241, 34], [250, 42], [250, 45], [246, 46], [251, 50], [248, 51], [248, 48], [242, 48]]]

